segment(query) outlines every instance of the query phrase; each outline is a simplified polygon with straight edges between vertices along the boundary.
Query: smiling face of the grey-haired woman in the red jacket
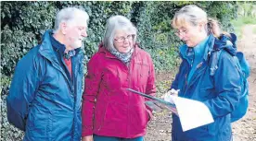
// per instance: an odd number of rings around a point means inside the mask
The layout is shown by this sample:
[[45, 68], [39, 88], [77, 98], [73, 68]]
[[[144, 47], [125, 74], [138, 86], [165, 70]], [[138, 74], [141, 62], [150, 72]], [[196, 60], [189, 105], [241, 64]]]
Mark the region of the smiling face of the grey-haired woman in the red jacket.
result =
[[114, 36], [114, 47], [120, 53], [128, 53], [134, 44], [134, 35], [122, 29], [117, 29]]

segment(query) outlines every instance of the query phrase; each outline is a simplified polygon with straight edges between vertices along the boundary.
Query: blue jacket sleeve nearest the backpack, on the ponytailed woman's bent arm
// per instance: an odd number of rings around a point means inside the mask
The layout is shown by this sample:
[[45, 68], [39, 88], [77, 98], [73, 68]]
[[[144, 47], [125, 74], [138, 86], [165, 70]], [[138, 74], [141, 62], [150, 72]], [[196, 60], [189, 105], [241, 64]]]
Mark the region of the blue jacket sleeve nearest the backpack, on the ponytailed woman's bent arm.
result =
[[232, 56], [226, 52], [220, 55], [219, 68], [214, 75], [214, 87], [217, 97], [204, 103], [213, 118], [224, 116], [234, 111], [241, 92], [241, 79]]

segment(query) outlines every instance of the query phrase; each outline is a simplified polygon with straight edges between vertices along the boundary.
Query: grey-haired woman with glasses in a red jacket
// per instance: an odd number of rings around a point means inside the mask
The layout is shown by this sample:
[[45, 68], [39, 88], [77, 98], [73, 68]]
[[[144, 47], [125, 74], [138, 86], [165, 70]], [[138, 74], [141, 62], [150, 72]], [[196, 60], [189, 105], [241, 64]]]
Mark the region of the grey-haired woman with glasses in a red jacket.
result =
[[143, 141], [154, 96], [155, 72], [148, 53], [139, 48], [136, 29], [122, 16], [108, 19], [103, 43], [88, 63], [83, 93], [83, 141]]

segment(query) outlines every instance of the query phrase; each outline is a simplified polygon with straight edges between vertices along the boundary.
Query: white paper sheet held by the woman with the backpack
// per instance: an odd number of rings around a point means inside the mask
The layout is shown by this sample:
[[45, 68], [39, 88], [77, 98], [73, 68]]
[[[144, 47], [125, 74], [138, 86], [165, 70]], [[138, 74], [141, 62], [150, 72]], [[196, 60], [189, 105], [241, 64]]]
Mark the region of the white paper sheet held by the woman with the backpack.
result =
[[171, 98], [176, 105], [183, 131], [214, 122], [210, 110], [204, 103], [176, 96]]

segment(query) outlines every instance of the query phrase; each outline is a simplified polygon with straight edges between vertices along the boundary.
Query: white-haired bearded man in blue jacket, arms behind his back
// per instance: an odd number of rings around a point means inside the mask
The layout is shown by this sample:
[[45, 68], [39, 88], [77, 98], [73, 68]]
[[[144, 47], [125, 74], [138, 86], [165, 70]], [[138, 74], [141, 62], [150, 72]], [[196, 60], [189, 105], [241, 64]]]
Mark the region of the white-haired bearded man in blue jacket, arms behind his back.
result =
[[25, 131], [25, 141], [81, 140], [83, 52], [89, 17], [82, 9], [58, 12], [15, 69], [7, 97], [9, 123]]

